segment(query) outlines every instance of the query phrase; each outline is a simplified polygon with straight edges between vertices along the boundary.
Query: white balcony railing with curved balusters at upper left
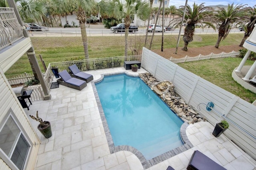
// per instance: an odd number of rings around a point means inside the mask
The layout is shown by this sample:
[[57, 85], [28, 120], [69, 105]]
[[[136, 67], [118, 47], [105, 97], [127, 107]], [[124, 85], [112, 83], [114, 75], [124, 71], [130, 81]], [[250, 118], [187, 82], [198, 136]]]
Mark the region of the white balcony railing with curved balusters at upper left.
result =
[[0, 49], [24, 37], [13, 8], [0, 8]]

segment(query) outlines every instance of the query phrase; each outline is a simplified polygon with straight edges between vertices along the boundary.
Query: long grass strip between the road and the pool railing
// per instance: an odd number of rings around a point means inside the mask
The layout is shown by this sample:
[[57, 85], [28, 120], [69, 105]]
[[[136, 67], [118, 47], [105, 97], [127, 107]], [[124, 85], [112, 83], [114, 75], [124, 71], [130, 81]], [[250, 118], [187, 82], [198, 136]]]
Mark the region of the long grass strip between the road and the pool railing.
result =
[[[222, 41], [220, 45], [239, 44], [243, 34], [230, 34]], [[133, 42], [134, 36], [130, 36]], [[164, 49], [176, 47], [178, 35], [164, 36]], [[189, 43], [190, 47], [203, 47], [206, 45], [215, 45], [218, 39], [217, 34], [212, 35], [194, 35], [194, 41]], [[44, 63], [70, 61], [72, 59], [84, 59], [84, 48], [81, 37], [31, 37], [38, 62], [40, 63], [39, 54], [42, 55]], [[140, 39], [144, 44], [144, 37]], [[162, 36], [154, 36], [151, 49], [161, 49]], [[130, 42], [130, 41], [129, 41]], [[134, 43], [133, 43], [134, 44]], [[104, 58], [124, 56], [124, 36], [122, 37], [88, 37], [89, 57]], [[180, 40], [179, 46], [183, 47], [184, 42]], [[149, 46], [149, 43], [147, 44]], [[128, 51], [131, 55], [131, 51]], [[18, 76], [24, 72], [32, 73], [27, 55], [23, 55], [6, 73], [7, 78]]]

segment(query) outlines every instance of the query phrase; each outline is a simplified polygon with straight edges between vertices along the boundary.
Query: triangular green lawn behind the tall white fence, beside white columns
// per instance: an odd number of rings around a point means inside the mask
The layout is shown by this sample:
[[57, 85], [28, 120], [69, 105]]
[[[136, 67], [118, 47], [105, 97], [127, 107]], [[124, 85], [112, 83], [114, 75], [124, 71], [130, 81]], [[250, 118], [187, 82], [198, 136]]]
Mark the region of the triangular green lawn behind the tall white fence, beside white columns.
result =
[[[232, 57], [178, 63], [178, 65], [228, 92], [239, 96], [247, 102], [252, 103], [256, 100], [256, 94], [238, 84], [231, 75], [234, 68], [236, 68], [241, 61], [242, 58]], [[245, 65], [252, 65], [253, 63], [254, 61], [246, 61]]]

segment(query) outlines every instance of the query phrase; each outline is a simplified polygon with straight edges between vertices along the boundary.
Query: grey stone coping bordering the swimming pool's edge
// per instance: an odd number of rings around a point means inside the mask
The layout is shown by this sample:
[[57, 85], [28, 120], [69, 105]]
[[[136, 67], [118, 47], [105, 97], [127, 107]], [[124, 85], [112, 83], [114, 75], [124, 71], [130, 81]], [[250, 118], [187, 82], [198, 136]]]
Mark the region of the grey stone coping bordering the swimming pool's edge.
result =
[[96, 103], [98, 105], [98, 109], [99, 109], [99, 112], [100, 112], [100, 118], [102, 120], [102, 125], [104, 127], [106, 139], [108, 141], [108, 147], [109, 147], [109, 150], [110, 150], [110, 154], [113, 154], [113, 153], [119, 152], [119, 151], [123, 151], [123, 150], [132, 152], [133, 154], [135, 154], [138, 157], [138, 159], [140, 160], [143, 168], [147, 169], [147, 168], [150, 168], [151, 166], [154, 166], [154, 165], [156, 165], [160, 162], [163, 162], [164, 160], [167, 160], [167, 159], [169, 159], [169, 158], [171, 158], [171, 157], [173, 157], [177, 154], [180, 154], [180, 153], [194, 147], [192, 145], [192, 143], [188, 140], [188, 136], [186, 135], [186, 128], [189, 125], [186, 122], [184, 122], [182, 124], [182, 126], [180, 127], [180, 137], [181, 137], [184, 145], [182, 145], [180, 147], [177, 147], [175, 149], [169, 150], [168, 152], [165, 152], [164, 154], [160, 154], [160, 155], [158, 155], [158, 156], [156, 156], [156, 157], [154, 157], [150, 160], [146, 160], [146, 158], [143, 156], [143, 154], [139, 150], [135, 149], [132, 146], [119, 145], [119, 146], [115, 147], [114, 146], [114, 141], [112, 139], [110, 129], [108, 127], [108, 123], [107, 123], [107, 120], [106, 120], [106, 117], [105, 117], [105, 114], [104, 114], [104, 111], [103, 111], [103, 108], [102, 108], [102, 105], [101, 105], [101, 102], [100, 102], [100, 98], [98, 96], [98, 92], [97, 92], [95, 83], [101, 82], [103, 80], [104, 76], [112, 76], [112, 75], [118, 75], [118, 74], [126, 74], [126, 75], [131, 76], [131, 77], [139, 77], [138, 75], [129, 74], [128, 72], [116, 72], [116, 73], [101, 74], [101, 77], [98, 80], [91, 81], [94, 96], [96, 98]]

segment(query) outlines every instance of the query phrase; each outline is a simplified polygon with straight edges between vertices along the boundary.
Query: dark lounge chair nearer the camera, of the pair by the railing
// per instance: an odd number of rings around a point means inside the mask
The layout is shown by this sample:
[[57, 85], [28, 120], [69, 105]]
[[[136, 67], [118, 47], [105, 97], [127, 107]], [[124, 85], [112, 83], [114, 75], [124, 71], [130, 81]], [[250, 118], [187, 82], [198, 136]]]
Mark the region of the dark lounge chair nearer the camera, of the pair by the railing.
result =
[[58, 74], [61, 77], [57, 80], [58, 84], [61, 84], [63, 86], [67, 86], [70, 88], [74, 88], [76, 90], [82, 90], [87, 86], [86, 81], [71, 77], [70, 74], [68, 74], [67, 70], [63, 70]]

